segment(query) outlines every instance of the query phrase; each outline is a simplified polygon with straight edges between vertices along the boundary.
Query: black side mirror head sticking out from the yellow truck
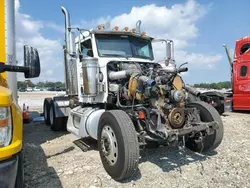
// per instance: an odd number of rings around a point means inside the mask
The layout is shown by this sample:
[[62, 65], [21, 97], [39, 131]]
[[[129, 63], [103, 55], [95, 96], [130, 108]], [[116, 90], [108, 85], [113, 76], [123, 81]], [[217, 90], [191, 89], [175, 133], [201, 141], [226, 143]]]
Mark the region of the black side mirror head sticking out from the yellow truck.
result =
[[24, 67], [27, 68], [24, 72], [25, 78], [36, 78], [40, 75], [40, 58], [36, 48], [24, 46]]

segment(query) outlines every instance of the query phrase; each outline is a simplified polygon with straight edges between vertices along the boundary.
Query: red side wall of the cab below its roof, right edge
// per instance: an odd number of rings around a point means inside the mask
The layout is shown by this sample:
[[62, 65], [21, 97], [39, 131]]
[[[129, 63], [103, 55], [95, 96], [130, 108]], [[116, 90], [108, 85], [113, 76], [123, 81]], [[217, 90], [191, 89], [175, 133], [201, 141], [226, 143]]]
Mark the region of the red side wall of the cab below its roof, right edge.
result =
[[234, 62], [234, 96], [235, 110], [250, 110], [250, 42], [238, 48], [238, 57]]

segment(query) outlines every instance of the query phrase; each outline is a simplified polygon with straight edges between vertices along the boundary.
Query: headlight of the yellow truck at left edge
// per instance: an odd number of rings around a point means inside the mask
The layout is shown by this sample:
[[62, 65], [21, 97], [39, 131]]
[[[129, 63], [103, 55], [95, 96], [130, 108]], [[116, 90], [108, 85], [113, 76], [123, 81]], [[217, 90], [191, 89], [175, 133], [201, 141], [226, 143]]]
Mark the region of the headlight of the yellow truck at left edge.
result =
[[12, 122], [10, 107], [0, 107], [0, 147], [10, 144]]

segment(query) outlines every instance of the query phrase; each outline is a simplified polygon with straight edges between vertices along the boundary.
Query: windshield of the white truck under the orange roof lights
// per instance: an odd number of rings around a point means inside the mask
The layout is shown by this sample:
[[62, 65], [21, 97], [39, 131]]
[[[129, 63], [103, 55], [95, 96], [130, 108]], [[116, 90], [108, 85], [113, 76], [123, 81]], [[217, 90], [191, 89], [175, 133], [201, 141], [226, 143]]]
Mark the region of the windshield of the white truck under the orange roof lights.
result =
[[100, 57], [135, 57], [153, 60], [151, 42], [127, 35], [96, 35]]

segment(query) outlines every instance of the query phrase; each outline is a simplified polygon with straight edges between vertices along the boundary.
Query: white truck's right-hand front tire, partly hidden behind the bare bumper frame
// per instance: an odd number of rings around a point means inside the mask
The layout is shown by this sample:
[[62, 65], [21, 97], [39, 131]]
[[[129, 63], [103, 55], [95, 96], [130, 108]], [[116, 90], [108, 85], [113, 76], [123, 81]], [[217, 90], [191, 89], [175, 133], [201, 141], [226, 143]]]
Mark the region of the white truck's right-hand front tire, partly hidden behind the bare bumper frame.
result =
[[[195, 101], [187, 104], [188, 107], [197, 108], [200, 111], [200, 118], [203, 122], [216, 121], [219, 128], [213, 134], [203, 138], [202, 144], [196, 143], [193, 139], [188, 139], [186, 146], [195, 152], [208, 152], [216, 149], [223, 139], [224, 127], [220, 114], [217, 110], [203, 101]], [[203, 145], [203, 149], [202, 149]]]

